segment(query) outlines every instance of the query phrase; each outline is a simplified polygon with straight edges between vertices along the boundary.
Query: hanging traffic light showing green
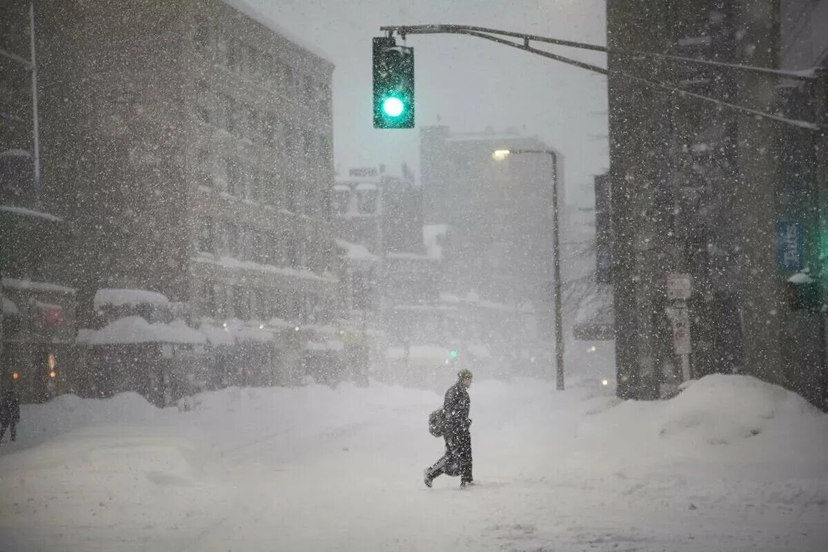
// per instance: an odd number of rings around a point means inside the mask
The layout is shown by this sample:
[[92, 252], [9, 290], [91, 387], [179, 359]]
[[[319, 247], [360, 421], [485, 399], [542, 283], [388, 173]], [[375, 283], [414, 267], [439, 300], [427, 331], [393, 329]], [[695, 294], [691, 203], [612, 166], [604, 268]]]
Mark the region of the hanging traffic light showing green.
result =
[[373, 39], [373, 127], [414, 127], [414, 49]]

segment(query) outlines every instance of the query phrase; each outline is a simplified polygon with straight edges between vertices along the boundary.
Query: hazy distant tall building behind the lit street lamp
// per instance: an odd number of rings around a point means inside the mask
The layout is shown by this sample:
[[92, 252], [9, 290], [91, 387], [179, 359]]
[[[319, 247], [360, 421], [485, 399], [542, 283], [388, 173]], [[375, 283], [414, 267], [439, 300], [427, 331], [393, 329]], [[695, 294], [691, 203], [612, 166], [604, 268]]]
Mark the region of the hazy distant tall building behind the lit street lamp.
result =
[[552, 292], [551, 193], [566, 204], [561, 156], [510, 156], [501, 149], [550, 150], [517, 132], [421, 131], [421, 185], [426, 223], [451, 227], [446, 290], [474, 290], [513, 305], [548, 305]]

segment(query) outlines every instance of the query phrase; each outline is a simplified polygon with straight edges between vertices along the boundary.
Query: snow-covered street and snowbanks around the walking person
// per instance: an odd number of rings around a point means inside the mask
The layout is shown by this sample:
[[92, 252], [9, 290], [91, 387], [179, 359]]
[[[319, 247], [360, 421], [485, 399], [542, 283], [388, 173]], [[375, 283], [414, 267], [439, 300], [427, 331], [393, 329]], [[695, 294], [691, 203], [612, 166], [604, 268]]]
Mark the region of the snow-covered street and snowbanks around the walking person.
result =
[[0, 449], [2, 550], [825, 550], [828, 418], [787, 391], [717, 376], [660, 403], [534, 381], [471, 396], [468, 490], [423, 485], [441, 454], [428, 391], [28, 406]]

